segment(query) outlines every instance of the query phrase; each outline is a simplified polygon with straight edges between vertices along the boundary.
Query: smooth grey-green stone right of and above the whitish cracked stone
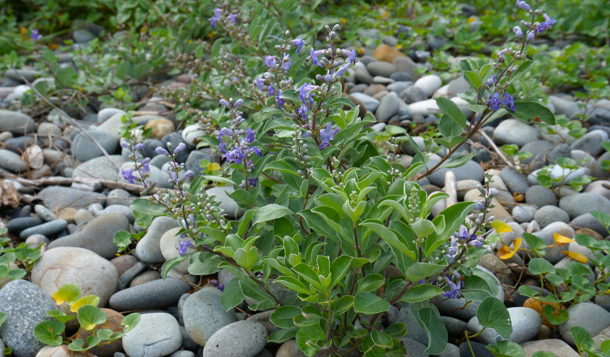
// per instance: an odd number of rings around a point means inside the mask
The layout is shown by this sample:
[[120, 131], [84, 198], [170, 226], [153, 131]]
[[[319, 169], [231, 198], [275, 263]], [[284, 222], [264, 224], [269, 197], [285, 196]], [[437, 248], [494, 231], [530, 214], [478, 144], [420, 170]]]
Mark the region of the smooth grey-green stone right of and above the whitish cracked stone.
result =
[[209, 286], [189, 295], [182, 306], [184, 328], [199, 345], [206, 345], [216, 331], [237, 321], [232, 309], [224, 311], [221, 294], [220, 290]]

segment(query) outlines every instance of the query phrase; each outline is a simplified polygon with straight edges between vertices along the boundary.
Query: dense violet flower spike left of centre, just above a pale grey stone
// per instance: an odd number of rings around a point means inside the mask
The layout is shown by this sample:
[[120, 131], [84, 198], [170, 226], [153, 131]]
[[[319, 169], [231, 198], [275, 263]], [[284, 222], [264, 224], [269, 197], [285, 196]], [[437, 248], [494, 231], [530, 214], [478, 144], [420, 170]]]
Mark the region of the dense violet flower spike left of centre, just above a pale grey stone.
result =
[[228, 127], [223, 127], [218, 130], [218, 149], [223, 153], [223, 158], [227, 160], [227, 163], [242, 164], [244, 176], [247, 180], [243, 180], [240, 185], [241, 188], [248, 189], [250, 186], [256, 186], [258, 178], [252, 177], [251, 172], [254, 170], [253, 155], [262, 157], [260, 147], [253, 146], [254, 143], [254, 130], [247, 128], [246, 130], [240, 129], [240, 124], [243, 123], [242, 111], [237, 109], [243, 104], [243, 99], [237, 99], [233, 102], [233, 99], [221, 99], [220, 104], [224, 105], [229, 110], [229, 118], [227, 123]]

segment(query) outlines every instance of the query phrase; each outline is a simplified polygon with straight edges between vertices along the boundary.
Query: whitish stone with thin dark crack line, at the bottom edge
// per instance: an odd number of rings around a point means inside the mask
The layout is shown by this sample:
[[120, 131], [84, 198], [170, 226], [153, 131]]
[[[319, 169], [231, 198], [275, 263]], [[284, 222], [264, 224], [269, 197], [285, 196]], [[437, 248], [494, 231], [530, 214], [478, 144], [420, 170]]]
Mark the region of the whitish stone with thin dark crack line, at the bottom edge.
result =
[[123, 336], [123, 349], [129, 357], [170, 355], [182, 345], [180, 325], [170, 314], [142, 314], [140, 322]]

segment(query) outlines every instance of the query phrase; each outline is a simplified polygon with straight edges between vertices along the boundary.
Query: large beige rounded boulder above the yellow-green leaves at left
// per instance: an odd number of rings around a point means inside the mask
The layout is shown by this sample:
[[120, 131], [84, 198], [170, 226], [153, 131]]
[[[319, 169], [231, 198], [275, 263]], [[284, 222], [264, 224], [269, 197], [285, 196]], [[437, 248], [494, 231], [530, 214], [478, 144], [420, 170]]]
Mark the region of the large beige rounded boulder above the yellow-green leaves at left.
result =
[[32, 283], [49, 295], [64, 284], [78, 285], [83, 296], [97, 295], [103, 307], [117, 290], [118, 273], [112, 263], [91, 250], [57, 247], [43, 253], [34, 265]]

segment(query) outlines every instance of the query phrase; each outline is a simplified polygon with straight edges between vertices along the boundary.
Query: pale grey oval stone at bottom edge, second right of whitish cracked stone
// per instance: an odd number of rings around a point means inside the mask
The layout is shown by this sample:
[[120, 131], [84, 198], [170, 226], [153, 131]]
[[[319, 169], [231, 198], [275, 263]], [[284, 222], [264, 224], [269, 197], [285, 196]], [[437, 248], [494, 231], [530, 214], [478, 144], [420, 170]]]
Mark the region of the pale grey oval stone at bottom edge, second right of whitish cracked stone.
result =
[[254, 357], [267, 344], [267, 330], [258, 322], [236, 321], [220, 328], [203, 348], [206, 357]]

